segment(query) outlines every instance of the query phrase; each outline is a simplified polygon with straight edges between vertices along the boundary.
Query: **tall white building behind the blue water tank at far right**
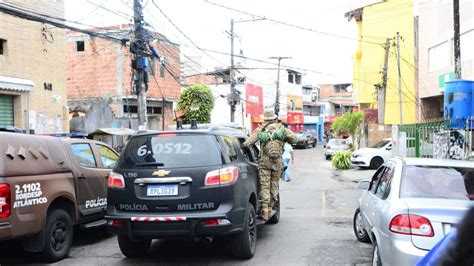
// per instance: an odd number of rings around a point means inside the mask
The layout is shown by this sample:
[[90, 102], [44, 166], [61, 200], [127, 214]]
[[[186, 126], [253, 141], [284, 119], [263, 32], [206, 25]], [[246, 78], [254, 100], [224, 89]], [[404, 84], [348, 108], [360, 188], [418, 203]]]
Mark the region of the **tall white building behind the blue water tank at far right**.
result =
[[[474, 3], [460, 0], [459, 6], [462, 79], [474, 80]], [[421, 112], [428, 119], [442, 118], [445, 85], [454, 79], [453, 14], [447, 12], [453, 2], [418, 1], [417, 7]]]

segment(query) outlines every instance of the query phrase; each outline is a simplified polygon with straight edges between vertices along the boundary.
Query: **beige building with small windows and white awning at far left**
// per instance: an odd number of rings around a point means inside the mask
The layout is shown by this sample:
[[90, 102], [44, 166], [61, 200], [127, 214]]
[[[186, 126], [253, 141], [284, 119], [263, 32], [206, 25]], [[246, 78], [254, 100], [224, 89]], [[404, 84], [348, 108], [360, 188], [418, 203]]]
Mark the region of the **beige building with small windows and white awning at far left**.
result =
[[[64, 1], [4, 0], [4, 6], [64, 18]], [[0, 13], [0, 127], [68, 132], [63, 29]]]

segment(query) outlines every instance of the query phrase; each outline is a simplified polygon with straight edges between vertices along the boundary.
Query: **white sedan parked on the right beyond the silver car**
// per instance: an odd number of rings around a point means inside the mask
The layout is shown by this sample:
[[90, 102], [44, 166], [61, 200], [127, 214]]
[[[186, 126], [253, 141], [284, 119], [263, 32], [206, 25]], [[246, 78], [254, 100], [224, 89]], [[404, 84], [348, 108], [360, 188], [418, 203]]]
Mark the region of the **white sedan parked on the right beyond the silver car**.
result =
[[377, 169], [392, 158], [392, 140], [383, 139], [370, 148], [358, 149], [352, 153], [352, 164]]

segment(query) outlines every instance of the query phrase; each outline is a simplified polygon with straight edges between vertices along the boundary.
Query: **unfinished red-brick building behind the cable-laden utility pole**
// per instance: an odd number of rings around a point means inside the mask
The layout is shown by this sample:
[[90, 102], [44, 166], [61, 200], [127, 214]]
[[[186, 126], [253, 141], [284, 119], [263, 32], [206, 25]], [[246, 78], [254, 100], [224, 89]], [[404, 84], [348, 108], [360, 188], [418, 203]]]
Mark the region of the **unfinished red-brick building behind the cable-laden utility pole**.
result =
[[[95, 31], [126, 38], [130, 37], [130, 27], [119, 25]], [[162, 35], [153, 34], [157, 42], [152, 42], [152, 45], [160, 60], [150, 60], [147, 68], [148, 129], [167, 129], [174, 124], [174, 104], [181, 90], [180, 52], [178, 45]], [[91, 132], [100, 127], [137, 129], [138, 104], [132, 85], [129, 47], [77, 32], [67, 32], [66, 44], [71, 130]]]

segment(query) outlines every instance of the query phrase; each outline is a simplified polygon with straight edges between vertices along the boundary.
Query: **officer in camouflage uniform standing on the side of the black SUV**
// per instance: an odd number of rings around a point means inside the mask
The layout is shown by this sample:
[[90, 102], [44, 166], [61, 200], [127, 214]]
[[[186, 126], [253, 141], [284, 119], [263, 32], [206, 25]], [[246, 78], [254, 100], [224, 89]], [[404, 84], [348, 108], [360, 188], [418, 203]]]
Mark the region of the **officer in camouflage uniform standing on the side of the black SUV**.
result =
[[282, 154], [285, 142], [296, 144], [298, 137], [277, 121], [272, 109], [266, 109], [263, 116], [265, 123], [255, 129], [243, 145], [250, 147], [260, 141], [260, 217], [267, 221], [273, 205], [278, 200], [278, 182], [283, 173]]

